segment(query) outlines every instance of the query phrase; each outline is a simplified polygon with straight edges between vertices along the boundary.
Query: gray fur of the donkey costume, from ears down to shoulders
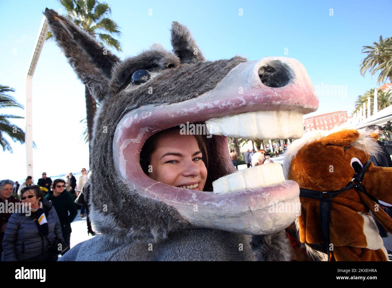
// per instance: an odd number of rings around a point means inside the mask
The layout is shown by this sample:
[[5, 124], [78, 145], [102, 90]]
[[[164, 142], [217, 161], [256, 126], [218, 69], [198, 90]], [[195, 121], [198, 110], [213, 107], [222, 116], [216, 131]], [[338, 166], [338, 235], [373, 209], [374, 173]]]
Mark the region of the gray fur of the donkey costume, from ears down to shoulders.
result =
[[[185, 229], [187, 221], [163, 202], [141, 197], [116, 175], [114, 132], [127, 112], [148, 104], [179, 103], [210, 91], [245, 58], [205, 61], [189, 30], [172, 23], [173, 51], [155, 44], [121, 61], [76, 27], [45, 9], [50, 29], [78, 78], [101, 103], [90, 143], [91, 219], [102, 233], [72, 248], [62, 261], [95, 260], [290, 260], [283, 234], [241, 235], [214, 229]], [[126, 89], [139, 69], [154, 73], [148, 85]], [[153, 93], [148, 93], [152, 88]], [[102, 131], [107, 129], [107, 133]], [[252, 241], [252, 238], [253, 241]], [[148, 245], [152, 244], [152, 251]], [[251, 244], [252, 243], [252, 244]], [[239, 245], [243, 250], [239, 250]]]

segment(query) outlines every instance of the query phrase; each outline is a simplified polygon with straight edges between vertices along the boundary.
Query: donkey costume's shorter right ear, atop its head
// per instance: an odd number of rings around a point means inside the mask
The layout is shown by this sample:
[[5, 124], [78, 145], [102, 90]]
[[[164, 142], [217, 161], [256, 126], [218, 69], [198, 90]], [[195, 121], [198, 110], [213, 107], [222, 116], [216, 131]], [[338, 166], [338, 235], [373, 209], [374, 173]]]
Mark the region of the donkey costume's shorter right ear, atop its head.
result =
[[171, 44], [173, 52], [180, 58], [181, 63], [204, 62], [205, 58], [188, 28], [173, 21], [171, 28]]

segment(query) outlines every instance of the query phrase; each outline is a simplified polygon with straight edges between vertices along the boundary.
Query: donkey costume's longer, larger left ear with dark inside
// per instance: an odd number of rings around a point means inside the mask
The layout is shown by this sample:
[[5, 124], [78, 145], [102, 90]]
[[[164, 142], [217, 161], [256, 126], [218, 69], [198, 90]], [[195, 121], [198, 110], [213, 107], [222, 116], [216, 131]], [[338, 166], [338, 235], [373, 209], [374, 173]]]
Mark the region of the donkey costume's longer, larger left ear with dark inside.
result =
[[120, 59], [56, 11], [46, 8], [44, 15], [58, 46], [78, 78], [88, 87], [94, 98], [101, 101], [107, 95], [112, 67], [116, 62], [120, 62]]

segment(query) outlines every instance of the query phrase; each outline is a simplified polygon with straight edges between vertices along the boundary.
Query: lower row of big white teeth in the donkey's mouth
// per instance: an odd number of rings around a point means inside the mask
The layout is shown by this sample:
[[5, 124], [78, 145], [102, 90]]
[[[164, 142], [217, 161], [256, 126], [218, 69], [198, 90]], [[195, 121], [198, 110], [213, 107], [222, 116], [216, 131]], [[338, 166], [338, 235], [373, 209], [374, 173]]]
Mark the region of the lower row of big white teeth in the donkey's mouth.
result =
[[279, 163], [269, 163], [223, 176], [212, 182], [212, 187], [214, 188], [214, 194], [221, 194], [270, 186], [284, 181], [285, 177], [283, 176], [282, 165]]

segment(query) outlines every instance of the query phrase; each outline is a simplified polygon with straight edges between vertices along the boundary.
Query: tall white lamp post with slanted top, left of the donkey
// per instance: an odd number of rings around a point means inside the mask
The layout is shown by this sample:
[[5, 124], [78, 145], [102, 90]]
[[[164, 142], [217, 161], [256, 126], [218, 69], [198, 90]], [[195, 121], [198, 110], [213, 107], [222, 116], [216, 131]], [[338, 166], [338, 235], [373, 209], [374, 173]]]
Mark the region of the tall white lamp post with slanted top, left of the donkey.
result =
[[35, 41], [34, 50], [31, 54], [30, 65], [27, 71], [26, 77], [26, 132], [25, 132], [25, 144], [26, 144], [26, 161], [27, 161], [27, 175], [33, 176], [33, 93], [32, 93], [32, 82], [35, 67], [38, 63], [42, 47], [46, 36], [49, 31], [49, 25], [46, 21], [45, 16], [42, 18], [40, 30]]

